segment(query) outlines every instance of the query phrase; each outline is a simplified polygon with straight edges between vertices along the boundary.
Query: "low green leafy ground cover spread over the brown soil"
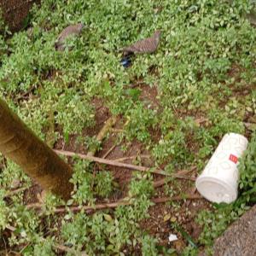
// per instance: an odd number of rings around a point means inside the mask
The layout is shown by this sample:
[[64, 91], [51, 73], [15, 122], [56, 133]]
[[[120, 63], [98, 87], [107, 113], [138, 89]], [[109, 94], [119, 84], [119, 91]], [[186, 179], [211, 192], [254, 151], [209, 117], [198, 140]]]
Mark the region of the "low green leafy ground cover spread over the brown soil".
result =
[[[10, 34], [1, 21], [0, 96], [51, 148], [81, 154], [96, 148], [99, 157], [197, 177], [226, 132], [250, 140], [239, 166], [240, 197], [228, 206], [185, 200], [195, 192], [190, 180], [166, 177], [158, 187], [160, 175], [68, 157], [74, 191], [56, 212], [64, 202], [46, 195], [42, 203], [38, 184], [1, 157], [1, 251], [211, 253], [213, 239], [255, 202], [256, 32], [245, 19], [252, 7], [244, 0], [45, 0], [20, 32]], [[56, 51], [61, 30], [78, 22], [84, 23], [79, 37]], [[157, 29], [158, 50], [122, 67], [119, 49]], [[98, 143], [112, 116], [116, 124]], [[151, 201], [177, 195], [183, 200]], [[123, 198], [130, 205], [71, 208]], [[179, 240], [170, 243], [171, 233]]]

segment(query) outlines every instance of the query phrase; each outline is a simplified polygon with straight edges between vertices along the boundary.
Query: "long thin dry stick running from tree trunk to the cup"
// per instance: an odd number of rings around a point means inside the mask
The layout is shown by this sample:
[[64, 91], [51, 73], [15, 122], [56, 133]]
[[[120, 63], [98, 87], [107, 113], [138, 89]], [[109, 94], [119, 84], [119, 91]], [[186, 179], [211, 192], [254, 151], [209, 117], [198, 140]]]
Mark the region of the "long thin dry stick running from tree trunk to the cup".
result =
[[65, 150], [54, 150], [55, 153], [57, 154], [62, 154], [62, 155], [66, 155], [66, 156], [79, 156], [79, 158], [84, 159], [84, 160], [91, 160], [97, 163], [101, 163], [104, 165], [108, 165], [108, 166], [118, 166], [118, 167], [122, 167], [122, 168], [127, 168], [127, 169], [131, 169], [131, 170], [136, 170], [136, 171], [140, 171], [140, 172], [152, 172], [152, 173], [156, 173], [156, 174], [160, 174], [160, 175], [164, 175], [164, 176], [170, 176], [170, 177], [177, 177], [177, 178], [187, 178], [187, 179], [191, 179], [191, 180], [195, 180], [195, 178], [193, 177], [184, 177], [183, 175], [179, 175], [178, 173], [166, 173], [162, 170], [151, 170], [148, 167], [145, 166], [134, 166], [131, 164], [125, 164], [125, 163], [120, 163], [118, 161], [115, 160], [107, 160], [107, 159], [102, 159], [96, 156], [89, 156], [86, 154], [76, 154], [74, 152], [70, 152], [70, 151], [65, 151]]

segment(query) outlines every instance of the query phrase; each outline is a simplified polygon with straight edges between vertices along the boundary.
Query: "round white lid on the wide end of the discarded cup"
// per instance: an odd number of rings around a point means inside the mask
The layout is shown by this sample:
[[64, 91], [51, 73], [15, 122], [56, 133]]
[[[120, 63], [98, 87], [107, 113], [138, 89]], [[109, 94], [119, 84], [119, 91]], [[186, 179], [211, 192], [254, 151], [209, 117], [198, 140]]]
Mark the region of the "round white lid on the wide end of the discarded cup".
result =
[[237, 189], [215, 177], [198, 177], [195, 186], [208, 201], [230, 203], [237, 197]]

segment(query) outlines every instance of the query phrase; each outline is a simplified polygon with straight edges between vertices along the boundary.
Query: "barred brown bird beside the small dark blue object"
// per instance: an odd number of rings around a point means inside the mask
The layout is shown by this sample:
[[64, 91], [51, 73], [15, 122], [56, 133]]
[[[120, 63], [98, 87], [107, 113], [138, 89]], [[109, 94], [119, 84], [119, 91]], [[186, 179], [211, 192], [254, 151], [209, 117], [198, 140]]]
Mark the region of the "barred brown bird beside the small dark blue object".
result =
[[131, 53], [153, 53], [160, 43], [160, 33], [160, 30], [157, 30], [154, 32], [152, 37], [137, 41], [135, 44], [125, 47], [122, 51], [125, 53], [125, 55], [129, 55]]

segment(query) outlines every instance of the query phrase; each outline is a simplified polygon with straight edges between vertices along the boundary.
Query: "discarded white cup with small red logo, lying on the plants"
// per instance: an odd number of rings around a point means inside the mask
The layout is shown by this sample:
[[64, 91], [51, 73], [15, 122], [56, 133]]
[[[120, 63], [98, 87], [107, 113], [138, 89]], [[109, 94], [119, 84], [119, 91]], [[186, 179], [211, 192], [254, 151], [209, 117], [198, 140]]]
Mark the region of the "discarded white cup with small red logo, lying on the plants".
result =
[[238, 159], [247, 148], [247, 138], [227, 133], [218, 144], [207, 166], [195, 181], [196, 189], [208, 201], [230, 203], [236, 200]]

